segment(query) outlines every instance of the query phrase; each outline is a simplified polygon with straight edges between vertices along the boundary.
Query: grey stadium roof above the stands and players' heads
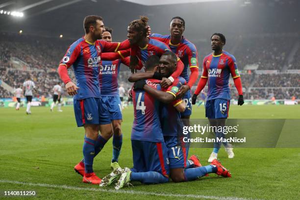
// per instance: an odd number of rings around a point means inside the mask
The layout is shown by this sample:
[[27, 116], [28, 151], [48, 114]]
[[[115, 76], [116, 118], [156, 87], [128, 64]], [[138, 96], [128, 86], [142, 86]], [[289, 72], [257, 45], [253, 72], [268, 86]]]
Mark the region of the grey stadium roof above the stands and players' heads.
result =
[[[129, 2], [131, 1], [131, 2]], [[207, 38], [212, 32], [239, 35], [260, 32], [300, 32], [300, 0], [1, 0], [0, 11], [20, 11], [24, 17], [0, 14], [1, 31], [78, 38], [87, 15], [100, 15], [114, 29], [114, 39], [126, 38], [127, 25], [140, 15], [150, 18], [155, 32], [167, 34], [170, 19], [186, 21], [185, 36]], [[197, 1], [197, 2], [196, 2]], [[205, 2], [203, 2], [205, 1]], [[151, 2], [151, 6], [145, 6]], [[139, 4], [138, 4], [139, 3]]]

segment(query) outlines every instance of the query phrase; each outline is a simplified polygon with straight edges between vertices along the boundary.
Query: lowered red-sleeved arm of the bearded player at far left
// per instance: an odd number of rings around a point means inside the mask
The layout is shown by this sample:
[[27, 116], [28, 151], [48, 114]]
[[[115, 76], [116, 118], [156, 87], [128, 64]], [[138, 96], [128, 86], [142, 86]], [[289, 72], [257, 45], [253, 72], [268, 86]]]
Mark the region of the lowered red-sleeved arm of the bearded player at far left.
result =
[[76, 43], [72, 44], [67, 50], [67, 53], [61, 60], [57, 69], [59, 77], [66, 85], [66, 90], [68, 94], [72, 96], [77, 94], [77, 89], [79, 88], [75, 85], [75, 83], [72, 82], [70, 76], [68, 75], [68, 68], [71, 67], [71, 65], [73, 65], [79, 54], [80, 46]]

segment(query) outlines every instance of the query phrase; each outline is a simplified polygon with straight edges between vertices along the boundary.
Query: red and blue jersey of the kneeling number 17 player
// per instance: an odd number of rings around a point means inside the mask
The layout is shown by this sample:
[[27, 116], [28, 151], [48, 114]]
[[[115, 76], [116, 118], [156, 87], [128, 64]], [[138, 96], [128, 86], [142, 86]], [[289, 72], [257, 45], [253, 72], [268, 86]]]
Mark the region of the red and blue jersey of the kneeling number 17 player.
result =
[[[162, 88], [162, 91], [168, 92], [176, 97], [181, 85], [185, 85], [185, 84], [186, 84], [185, 79], [179, 76], [174, 80], [172, 85], [169, 86], [167, 89]], [[180, 127], [182, 127], [182, 121], [181, 121], [180, 112], [176, 110], [175, 106], [177, 106], [181, 102], [182, 100], [178, 99], [178, 100], [174, 100], [172, 103], [163, 104], [163, 108], [160, 116], [160, 122], [161, 122], [161, 128], [164, 136], [177, 136], [179, 134], [178, 130]]]

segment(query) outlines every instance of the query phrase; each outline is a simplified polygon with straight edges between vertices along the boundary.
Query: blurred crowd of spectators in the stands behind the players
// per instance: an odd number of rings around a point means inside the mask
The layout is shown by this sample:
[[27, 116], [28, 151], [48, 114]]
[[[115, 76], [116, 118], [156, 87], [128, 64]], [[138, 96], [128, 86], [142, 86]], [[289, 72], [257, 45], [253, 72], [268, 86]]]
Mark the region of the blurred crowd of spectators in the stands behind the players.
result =
[[[261, 36], [249, 38], [229, 38], [225, 50], [234, 51], [238, 68], [242, 72], [242, 84], [245, 99], [290, 99], [293, 96], [300, 99], [300, 89], [284, 87], [300, 87], [300, 74], [255, 74], [243, 70], [247, 64], [258, 64], [258, 70], [281, 70], [287, 63], [287, 56], [291, 51], [294, 40], [278, 36]], [[0, 33], [0, 80], [13, 88], [22, 86], [25, 79], [30, 76], [36, 84], [35, 96], [51, 97], [51, 89], [60, 78], [56, 72], [58, 63], [63, 57], [72, 40], [45, 38], [40, 36]], [[208, 44], [206, 44], [208, 43]], [[202, 72], [202, 59], [211, 52], [210, 43], [198, 41], [195, 43], [199, 51], [200, 75]], [[17, 69], [12, 60], [20, 60], [23, 68]], [[296, 53], [289, 69], [300, 69], [300, 54]], [[69, 75], [75, 80], [73, 70]], [[127, 81], [130, 72], [124, 65], [121, 66], [118, 77], [119, 84], [125, 90], [132, 86]], [[199, 76], [200, 78], [200, 76]], [[198, 81], [199, 81], [198, 78]], [[197, 83], [198, 83], [197, 81]], [[192, 88], [196, 89], [197, 83]], [[255, 87], [258, 89], [251, 89]], [[261, 89], [260, 87], [280, 87]], [[282, 88], [283, 87], [283, 88]], [[230, 81], [231, 96], [237, 98], [238, 94], [233, 81]], [[67, 94], [64, 94], [67, 96]], [[0, 87], [1, 98], [11, 98], [13, 94]]]

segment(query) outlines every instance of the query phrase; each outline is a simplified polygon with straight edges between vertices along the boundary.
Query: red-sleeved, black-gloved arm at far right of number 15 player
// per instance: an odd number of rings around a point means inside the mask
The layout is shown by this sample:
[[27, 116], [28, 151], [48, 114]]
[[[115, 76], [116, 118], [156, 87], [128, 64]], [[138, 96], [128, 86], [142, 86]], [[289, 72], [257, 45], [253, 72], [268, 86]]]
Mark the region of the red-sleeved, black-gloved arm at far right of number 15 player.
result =
[[238, 105], [243, 105], [244, 104], [244, 96], [243, 96], [242, 80], [241, 80], [241, 75], [237, 68], [236, 60], [235, 60], [234, 56], [230, 57], [230, 59], [228, 60], [228, 67], [230, 69], [230, 74], [233, 78], [234, 85], [239, 93]]

